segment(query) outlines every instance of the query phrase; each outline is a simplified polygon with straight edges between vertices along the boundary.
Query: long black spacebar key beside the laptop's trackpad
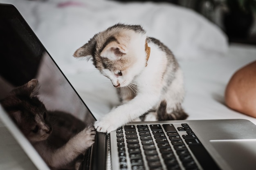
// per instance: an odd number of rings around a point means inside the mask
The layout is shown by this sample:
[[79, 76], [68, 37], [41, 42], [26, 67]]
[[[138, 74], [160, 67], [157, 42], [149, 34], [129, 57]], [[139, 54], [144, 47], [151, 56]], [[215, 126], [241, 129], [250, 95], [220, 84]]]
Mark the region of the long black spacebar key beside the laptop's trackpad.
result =
[[204, 170], [220, 170], [203, 145], [189, 145], [189, 148]]

